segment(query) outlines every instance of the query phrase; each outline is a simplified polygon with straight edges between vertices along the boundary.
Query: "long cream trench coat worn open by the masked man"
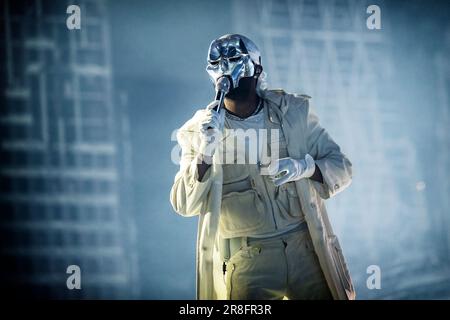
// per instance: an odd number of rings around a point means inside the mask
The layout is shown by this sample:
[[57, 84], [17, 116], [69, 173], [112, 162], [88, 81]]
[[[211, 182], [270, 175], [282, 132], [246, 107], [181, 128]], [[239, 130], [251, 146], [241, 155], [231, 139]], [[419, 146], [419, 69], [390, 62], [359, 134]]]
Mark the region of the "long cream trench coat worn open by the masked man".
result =
[[[311, 179], [295, 182], [301, 208], [314, 244], [314, 249], [334, 299], [354, 299], [355, 290], [342, 249], [328, 220], [324, 199], [344, 190], [352, 177], [352, 165], [339, 146], [310, 111], [306, 95], [288, 94], [282, 90], [260, 93], [266, 100], [267, 125], [281, 125], [292, 158], [309, 153], [320, 168], [324, 183]], [[182, 216], [198, 216], [196, 248], [197, 299], [220, 298], [214, 284], [213, 254], [217, 252], [218, 222], [222, 199], [222, 166], [217, 157], [201, 182], [196, 176], [196, 152], [199, 143], [198, 110], [177, 132], [181, 146], [180, 170], [170, 193], [174, 210]]]

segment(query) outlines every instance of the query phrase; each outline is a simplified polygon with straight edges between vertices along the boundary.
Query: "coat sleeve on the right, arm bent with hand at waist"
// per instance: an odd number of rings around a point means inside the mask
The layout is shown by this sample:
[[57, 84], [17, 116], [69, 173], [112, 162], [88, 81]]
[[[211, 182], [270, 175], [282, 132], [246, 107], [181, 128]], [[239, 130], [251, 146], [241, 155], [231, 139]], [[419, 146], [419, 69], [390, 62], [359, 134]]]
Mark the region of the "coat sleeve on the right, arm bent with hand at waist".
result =
[[305, 101], [308, 153], [319, 167], [323, 183], [312, 181], [323, 199], [330, 198], [348, 187], [352, 180], [352, 164], [340, 147], [319, 124], [319, 118]]

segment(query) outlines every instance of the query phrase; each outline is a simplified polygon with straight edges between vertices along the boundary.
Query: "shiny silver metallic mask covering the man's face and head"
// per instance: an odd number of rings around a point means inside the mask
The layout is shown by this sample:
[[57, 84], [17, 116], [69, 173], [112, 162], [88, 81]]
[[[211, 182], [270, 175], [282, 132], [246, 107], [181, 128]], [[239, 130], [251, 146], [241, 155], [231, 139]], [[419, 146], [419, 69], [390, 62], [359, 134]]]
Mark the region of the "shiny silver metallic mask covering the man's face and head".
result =
[[255, 75], [255, 65], [261, 64], [258, 47], [247, 37], [239, 34], [227, 34], [211, 42], [208, 51], [208, 72], [212, 82], [228, 76], [232, 88], [239, 85], [239, 80]]

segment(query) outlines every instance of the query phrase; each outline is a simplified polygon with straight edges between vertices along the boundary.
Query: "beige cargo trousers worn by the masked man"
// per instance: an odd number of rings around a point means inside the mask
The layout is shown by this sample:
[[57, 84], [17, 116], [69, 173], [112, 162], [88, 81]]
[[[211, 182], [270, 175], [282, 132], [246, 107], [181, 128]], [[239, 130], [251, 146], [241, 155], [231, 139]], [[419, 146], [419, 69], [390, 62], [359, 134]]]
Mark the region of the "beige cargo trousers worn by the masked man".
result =
[[247, 241], [227, 262], [226, 299], [332, 299], [308, 230]]

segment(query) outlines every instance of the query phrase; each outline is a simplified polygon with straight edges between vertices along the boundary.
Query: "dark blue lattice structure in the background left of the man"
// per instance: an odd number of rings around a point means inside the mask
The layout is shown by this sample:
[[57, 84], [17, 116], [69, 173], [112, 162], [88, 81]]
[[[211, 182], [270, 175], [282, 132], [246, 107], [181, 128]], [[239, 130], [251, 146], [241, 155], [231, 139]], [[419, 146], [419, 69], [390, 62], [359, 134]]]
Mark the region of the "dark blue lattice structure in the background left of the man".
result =
[[[3, 1], [1, 286], [18, 297], [138, 294], [129, 154], [103, 1]], [[123, 107], [123, 106], [122, 106]], [[68, 290], [66, 268], [81, 268]]]

